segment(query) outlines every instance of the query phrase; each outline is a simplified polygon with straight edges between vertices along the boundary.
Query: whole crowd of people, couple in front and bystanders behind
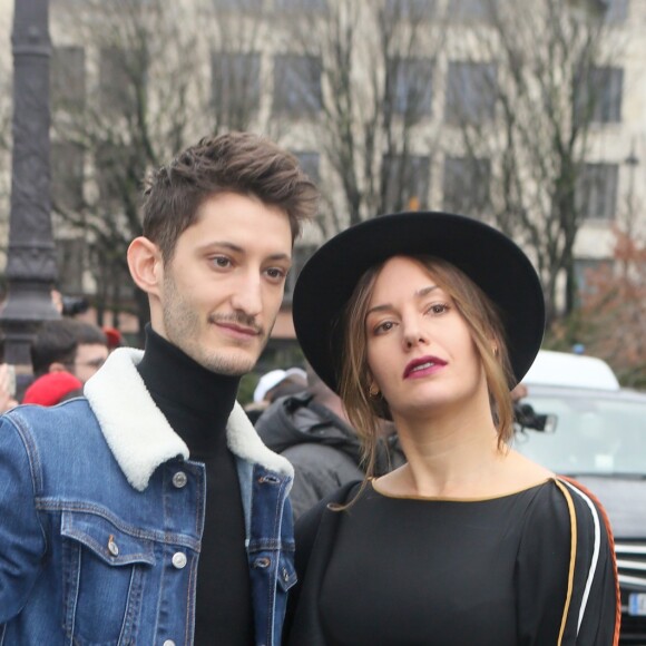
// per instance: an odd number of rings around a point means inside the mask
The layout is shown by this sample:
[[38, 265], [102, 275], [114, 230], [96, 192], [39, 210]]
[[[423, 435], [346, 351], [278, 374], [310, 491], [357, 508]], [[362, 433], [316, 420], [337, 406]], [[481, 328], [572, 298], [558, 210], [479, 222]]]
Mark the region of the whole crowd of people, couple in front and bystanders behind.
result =
[[294, 292], [306, 363], [236, 401], [317, 208], [274, 143], [204, 138], [146, 180], [144, 350], [63, 317], [17, 397], [0, 366], [0, 643], [618, 644], [603, 508], [509, 448], [545, 306], [497, 229], [332, 237]]

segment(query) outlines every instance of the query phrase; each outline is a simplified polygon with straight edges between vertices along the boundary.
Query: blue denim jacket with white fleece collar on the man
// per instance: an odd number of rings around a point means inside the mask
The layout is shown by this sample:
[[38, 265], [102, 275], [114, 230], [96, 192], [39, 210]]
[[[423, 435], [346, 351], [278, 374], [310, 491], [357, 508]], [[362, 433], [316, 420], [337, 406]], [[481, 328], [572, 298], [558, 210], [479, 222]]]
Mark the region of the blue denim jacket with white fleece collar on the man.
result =
[[[115, 351], [85, 398], [0, 418], [0, 645], [192, 644], [204, 466]], [[235, 408], [256, 644], [278, 646], [295, 583], [293, 470]], [[217, 576], [217, 572], [214, 572]], [[214, 635], [217, 643], [217, 635]]]

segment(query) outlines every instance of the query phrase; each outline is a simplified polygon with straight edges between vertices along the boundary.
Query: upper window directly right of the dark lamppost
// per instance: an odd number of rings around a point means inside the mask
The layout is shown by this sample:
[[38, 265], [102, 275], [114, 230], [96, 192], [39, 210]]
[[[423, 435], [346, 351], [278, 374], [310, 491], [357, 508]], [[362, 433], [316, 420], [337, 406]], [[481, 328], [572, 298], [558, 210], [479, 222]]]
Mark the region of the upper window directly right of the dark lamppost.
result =
[[51, 56], [52, 108], [81, 110], [85, 102], [85, 49], [82, 47], [55, 47]]

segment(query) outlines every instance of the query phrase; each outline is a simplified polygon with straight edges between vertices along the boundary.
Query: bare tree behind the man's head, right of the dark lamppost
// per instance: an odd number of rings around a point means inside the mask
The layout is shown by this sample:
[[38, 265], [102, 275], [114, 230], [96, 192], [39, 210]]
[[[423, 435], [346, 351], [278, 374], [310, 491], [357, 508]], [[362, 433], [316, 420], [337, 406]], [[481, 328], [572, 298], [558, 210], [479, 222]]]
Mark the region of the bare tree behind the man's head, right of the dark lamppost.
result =
[[127, 245], [140, 233], [145, 174], [199, 137], [245, 129], [258, 116], [260, 17], [222, 4], [59, 0], [55, 7], [74, 40], [55, 49], [53, 208], [59, 238], [84, 241], [99, 322], [107, 309], [118, 319], [133, 296], [141, 330], [148, 316], [126, 265]]

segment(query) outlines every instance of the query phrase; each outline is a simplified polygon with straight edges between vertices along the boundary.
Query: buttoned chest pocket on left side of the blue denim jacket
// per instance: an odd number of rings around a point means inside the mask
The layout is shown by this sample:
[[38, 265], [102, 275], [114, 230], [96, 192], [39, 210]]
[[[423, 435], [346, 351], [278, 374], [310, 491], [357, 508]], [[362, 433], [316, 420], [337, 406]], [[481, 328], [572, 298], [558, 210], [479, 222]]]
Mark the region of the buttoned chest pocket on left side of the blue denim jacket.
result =
[[61, 515], [65, 629], [75, 644], [135, 644], [155, 542], [100, 510]]

